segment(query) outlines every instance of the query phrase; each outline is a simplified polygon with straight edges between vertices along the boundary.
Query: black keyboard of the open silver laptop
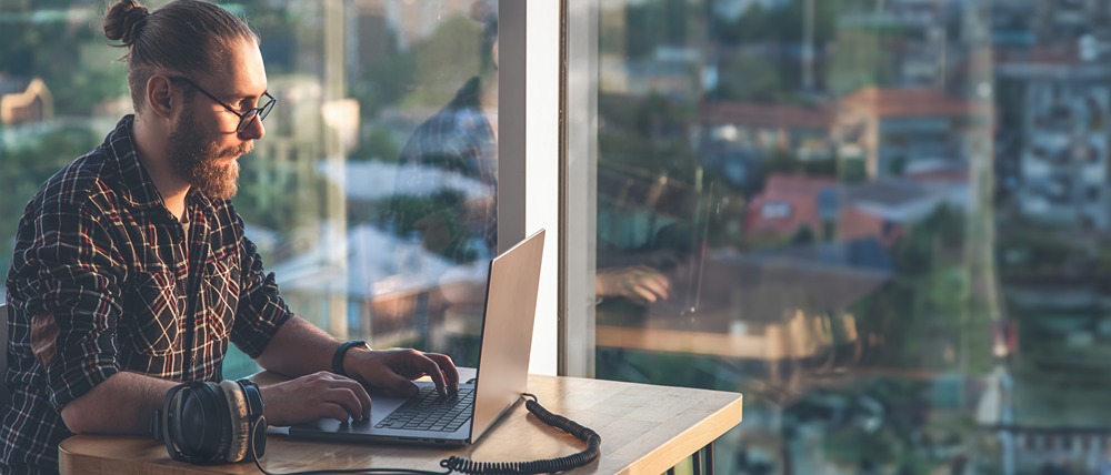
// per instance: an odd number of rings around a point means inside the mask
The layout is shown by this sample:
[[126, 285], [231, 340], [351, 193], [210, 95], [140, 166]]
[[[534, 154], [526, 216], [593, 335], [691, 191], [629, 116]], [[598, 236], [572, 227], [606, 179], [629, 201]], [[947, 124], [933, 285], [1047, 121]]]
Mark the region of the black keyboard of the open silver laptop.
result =
[[421, 386], [420, 395], [407, 401], [374, 427], [456, 432], [471, 418], [473, 404], [474, 390], [471, 387], [460, 387], [458, 394], [443, 397], [436, 387]]

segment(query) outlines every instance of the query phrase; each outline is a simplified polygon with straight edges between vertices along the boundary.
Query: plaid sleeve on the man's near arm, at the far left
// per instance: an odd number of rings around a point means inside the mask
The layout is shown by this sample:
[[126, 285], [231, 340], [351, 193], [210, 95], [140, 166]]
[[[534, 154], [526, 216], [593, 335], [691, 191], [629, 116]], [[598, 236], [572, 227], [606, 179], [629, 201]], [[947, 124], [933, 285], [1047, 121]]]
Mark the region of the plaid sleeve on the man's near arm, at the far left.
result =
[[84, 203], [47, 201], [21, 226], [12, 262], [23, 312], [52, 315], [57, 353], [46, 367], [50, 404], [61, 411], [118, 373], [116, 331], [126, 267], [112, 231]]

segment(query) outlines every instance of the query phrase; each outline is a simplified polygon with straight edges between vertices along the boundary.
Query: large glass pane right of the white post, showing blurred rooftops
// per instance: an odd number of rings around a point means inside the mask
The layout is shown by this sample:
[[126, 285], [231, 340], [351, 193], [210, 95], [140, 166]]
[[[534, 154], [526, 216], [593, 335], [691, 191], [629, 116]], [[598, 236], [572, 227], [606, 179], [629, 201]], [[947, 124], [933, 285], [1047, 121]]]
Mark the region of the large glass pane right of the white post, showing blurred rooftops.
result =
[[744, 393], [722, 473], [1105, 469], [1105, 2], [591, 4], [597, 377]]

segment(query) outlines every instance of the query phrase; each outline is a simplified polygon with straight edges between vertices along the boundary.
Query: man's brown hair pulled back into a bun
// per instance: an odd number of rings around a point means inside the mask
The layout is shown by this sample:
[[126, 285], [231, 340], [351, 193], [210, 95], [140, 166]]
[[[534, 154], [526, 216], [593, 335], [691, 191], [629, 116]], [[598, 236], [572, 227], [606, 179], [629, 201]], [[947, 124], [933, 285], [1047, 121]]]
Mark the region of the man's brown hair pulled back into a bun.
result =
[[128, 48], [128, 87], [136, 110], [144, 105], [147, 80], [159, 70], [181, 74], [224, 67], [239, 40], [259, 42], [247, 23], [200, 0], [174, 0], [151, 13], [136, 0], [120, 0], [104, 14], [104, 36]]

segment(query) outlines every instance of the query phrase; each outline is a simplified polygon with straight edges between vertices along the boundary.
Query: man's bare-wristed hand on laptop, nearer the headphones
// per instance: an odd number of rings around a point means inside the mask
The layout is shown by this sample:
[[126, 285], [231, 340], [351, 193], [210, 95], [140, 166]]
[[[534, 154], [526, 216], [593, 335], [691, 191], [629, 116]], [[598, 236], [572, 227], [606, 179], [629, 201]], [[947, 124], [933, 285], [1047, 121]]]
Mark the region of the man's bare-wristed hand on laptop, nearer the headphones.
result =
[[321, 371], [260, 388], [270, 425], [287, 426], [331, 417], [370, 417], [370, 395], [350, 377]]

